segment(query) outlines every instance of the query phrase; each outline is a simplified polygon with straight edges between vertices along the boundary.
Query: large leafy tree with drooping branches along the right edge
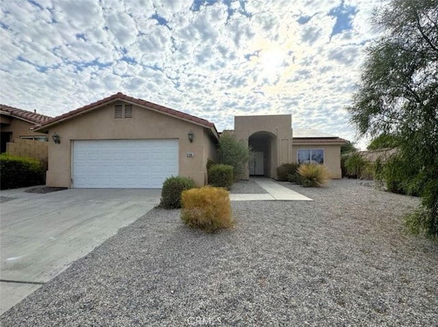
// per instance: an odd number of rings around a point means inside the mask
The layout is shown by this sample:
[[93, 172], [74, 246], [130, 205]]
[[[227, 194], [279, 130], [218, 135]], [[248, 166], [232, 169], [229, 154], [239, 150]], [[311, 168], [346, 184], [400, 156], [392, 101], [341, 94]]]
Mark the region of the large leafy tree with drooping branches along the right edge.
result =
[[391, 0], [374, 26], [381, 36], [368, 47], [350, 120], [360, 135], [398, 140], [398, 175], [422, 197], [407, 225], [438, 237], [438, 1]]

